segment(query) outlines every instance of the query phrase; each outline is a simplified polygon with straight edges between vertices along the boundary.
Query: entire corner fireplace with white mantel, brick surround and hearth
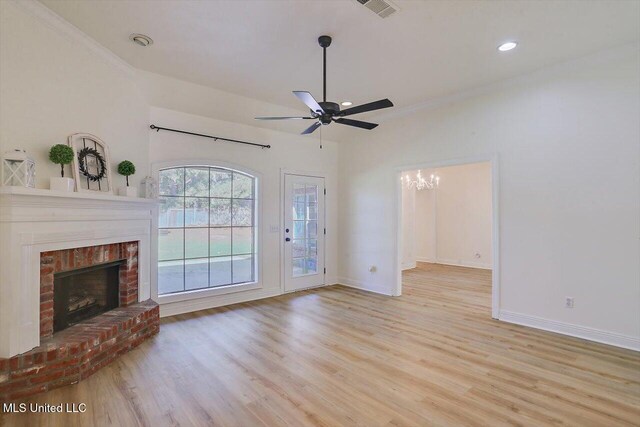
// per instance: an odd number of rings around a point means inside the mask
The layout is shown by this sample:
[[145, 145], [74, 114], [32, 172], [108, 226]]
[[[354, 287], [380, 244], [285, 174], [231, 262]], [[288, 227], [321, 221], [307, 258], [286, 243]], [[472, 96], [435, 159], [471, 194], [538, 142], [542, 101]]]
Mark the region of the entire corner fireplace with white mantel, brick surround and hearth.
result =
[[158, 333], [156, 215], [155, 200], [0, 187], [0, 403], [81, 381]]

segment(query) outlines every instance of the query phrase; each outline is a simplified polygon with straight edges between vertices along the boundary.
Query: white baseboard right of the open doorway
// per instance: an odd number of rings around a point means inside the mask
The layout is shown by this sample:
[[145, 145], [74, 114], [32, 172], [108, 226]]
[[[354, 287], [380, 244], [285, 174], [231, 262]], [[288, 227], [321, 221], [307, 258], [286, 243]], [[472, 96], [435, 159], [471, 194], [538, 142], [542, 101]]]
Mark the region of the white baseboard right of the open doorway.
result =
[[601, 331], [599, 329], [558, 322], [557, 320], [543, 319], [541, 317], [514, 313], [506, 310], [500, 310], [498, 319], [503, 322], [515, 323], [517, 325], [529, 326], [531, 328], [542, 329], [549, 332], [583, 338], [589, 341], [609, 344], [629, 350], [640, 351], [640, 338], [638, 337], [630, 337], [628, 335], [617, 334], [615, 332]]

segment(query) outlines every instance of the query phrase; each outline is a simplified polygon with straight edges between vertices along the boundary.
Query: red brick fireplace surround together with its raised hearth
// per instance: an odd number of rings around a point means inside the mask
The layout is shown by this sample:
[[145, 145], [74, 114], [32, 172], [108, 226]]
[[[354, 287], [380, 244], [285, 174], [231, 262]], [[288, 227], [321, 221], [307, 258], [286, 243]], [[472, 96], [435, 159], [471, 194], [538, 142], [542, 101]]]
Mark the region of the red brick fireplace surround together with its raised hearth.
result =
[[[124, 260], [119, 307], [53, 333], [54, 274]], [[138, 302], [138, 242], [40, 254], [40, 345], [0, 358], [0, 402], [77, 383], [158, 333], [158, 304]]]

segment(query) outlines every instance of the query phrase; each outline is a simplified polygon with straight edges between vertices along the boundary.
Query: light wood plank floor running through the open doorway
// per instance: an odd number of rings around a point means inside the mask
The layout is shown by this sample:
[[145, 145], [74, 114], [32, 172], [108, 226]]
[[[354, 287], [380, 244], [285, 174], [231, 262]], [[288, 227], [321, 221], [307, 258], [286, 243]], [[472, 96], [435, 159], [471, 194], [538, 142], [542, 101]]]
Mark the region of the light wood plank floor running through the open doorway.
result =
[[640, 424], [640, 353], [490, 319], [490, 273], [421, 264], [398, 298], [332, 286], [164, 319], [24, 426]]

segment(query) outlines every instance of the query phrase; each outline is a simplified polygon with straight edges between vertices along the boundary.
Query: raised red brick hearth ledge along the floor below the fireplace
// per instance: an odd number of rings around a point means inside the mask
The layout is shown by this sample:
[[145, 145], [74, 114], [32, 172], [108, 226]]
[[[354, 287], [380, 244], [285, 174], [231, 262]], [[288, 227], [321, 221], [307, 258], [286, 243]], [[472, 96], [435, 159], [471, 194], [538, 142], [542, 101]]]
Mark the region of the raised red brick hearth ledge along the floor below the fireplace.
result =
[[33, 350], [0, 358], [0, 403], [77, 383], [157, 334], [152, 300], [119, 307], [43, 339]]

